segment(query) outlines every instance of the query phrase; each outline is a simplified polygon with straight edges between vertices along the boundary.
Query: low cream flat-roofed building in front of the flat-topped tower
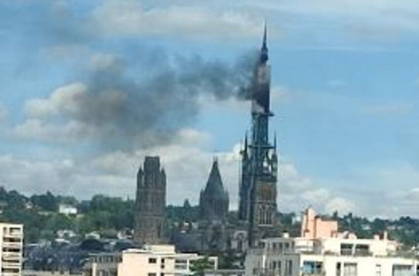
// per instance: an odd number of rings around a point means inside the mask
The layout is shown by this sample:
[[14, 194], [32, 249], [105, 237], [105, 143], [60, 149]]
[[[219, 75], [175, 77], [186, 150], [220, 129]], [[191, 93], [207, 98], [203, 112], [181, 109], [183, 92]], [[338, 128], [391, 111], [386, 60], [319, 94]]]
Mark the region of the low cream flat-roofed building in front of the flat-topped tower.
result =
[[[196, 253], [177, 253], [175, 245], [147, 245], [122, 253], [92, 254], [86, 276], [189, 276], [192, 263], [203, 258]], [[212, 270], [218, 258], [210, 257]]]

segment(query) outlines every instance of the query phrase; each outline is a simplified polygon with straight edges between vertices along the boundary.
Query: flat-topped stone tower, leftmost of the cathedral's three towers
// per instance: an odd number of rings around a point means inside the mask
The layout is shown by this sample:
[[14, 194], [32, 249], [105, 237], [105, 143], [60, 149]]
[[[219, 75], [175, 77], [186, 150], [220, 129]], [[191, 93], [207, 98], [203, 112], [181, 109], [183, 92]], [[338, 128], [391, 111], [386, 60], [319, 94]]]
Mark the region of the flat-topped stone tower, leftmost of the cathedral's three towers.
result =
[[137, 244], [166, 241], [166, 173], [159, 157], [145, 157], [137, 175], [134, 240]]

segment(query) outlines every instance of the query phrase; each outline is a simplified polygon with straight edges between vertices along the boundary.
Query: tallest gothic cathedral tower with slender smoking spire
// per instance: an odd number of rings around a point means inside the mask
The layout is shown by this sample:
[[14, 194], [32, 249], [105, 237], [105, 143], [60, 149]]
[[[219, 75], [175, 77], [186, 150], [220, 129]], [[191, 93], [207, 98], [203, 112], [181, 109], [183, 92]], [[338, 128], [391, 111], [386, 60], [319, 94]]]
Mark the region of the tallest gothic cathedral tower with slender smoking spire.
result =
[[276, 225], [278, 157], [269, 142], [271, 67], [266, 25], [251, 86], [251, 139], [242, 150], [239, 219], [248, 225], [249, 245], [269, 236]]

